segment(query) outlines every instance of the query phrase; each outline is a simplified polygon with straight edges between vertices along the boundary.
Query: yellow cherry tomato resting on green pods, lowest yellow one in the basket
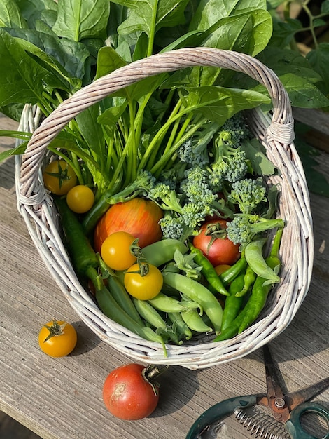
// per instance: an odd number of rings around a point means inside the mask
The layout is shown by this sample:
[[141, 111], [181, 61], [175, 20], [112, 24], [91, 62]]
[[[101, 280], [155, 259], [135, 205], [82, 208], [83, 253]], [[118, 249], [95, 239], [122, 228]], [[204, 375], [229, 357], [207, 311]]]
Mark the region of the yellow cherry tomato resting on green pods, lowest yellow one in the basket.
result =
[[[141, 272], [141, 266], [148, 266], [147, 272]], [[123, 279], [127, 292], [141, 300], [153, 299], [162, 289], [161, 271], [152, 264], [134, 264], [125, 272]], [[143, 270], [142, 270], [143, 271]]]

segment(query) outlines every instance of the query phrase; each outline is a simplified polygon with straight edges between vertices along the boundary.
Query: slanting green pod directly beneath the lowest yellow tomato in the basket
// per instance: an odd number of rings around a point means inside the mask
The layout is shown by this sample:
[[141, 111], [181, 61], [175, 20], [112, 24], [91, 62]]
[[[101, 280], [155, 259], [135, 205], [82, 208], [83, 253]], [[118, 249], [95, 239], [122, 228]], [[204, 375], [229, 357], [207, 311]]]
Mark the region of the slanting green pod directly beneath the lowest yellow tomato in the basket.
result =
[[163, 337], [172, 339], [176, 344], [182, 344], [183, 342], [179, 340], [178, 335], [172, 327], [168, 326], [165, 320], [160, 316], [160, 313], [153, 308], [151, 304], [146, 302], [146, 300], [136, 299], [132, 297], [134, 306], [136, 306], [137, 311], [146, 322], [151, 326], [155, 327], [155, 332], [160, 333]]

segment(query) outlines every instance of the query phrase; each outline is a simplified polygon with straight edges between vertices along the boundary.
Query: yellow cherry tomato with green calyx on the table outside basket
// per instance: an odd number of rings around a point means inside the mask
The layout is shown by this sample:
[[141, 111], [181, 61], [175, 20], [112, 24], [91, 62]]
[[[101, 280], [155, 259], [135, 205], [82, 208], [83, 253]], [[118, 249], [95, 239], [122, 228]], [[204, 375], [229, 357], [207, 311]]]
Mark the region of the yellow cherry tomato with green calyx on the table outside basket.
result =
[[74, 327], [63, 320], [52, 320], [41, 327], [38, 344], [50, 357], [64, 357], [76, 347], [78, 337]]

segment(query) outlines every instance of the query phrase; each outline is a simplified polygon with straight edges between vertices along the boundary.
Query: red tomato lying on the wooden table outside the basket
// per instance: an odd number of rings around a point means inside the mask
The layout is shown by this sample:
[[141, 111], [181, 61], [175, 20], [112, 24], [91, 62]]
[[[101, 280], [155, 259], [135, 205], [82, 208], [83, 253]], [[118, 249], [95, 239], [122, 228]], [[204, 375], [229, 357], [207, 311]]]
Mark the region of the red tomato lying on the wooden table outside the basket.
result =
[[103, 386], [104, 404], [114, 416], [134, 421], [148, 417], [158, 405], [158, 386], [144, 378], [145, 367], [128, 364], [113, 370]]

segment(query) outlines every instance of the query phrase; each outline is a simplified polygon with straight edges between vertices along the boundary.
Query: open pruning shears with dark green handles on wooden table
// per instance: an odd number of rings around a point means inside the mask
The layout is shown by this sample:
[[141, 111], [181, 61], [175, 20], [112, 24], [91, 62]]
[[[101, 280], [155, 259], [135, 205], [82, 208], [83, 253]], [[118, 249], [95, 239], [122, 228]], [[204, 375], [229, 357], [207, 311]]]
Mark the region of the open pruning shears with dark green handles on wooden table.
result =
[[300, 422], [307, 412], [318, 414], [327, 422], [328, 433], [323, 439], [329, 439], [329, 410], [321, 404], [307, 402], [329, 387], [329, 377], [316, 384], [292, 393], [284, 393], [279, 383], [269, 347], [265, 345], [264, 363], [266, 372], [267, 393], [237, 396], [215, 404], [206, 410], [190, 428], [186, 439], [200, 439], [202, 433], [211, 424], [234, 414], [239, 408], [262, 405], [272, 411], [272, 417], [284, 425], [292, 439], [317, 439], [307, 433]]

